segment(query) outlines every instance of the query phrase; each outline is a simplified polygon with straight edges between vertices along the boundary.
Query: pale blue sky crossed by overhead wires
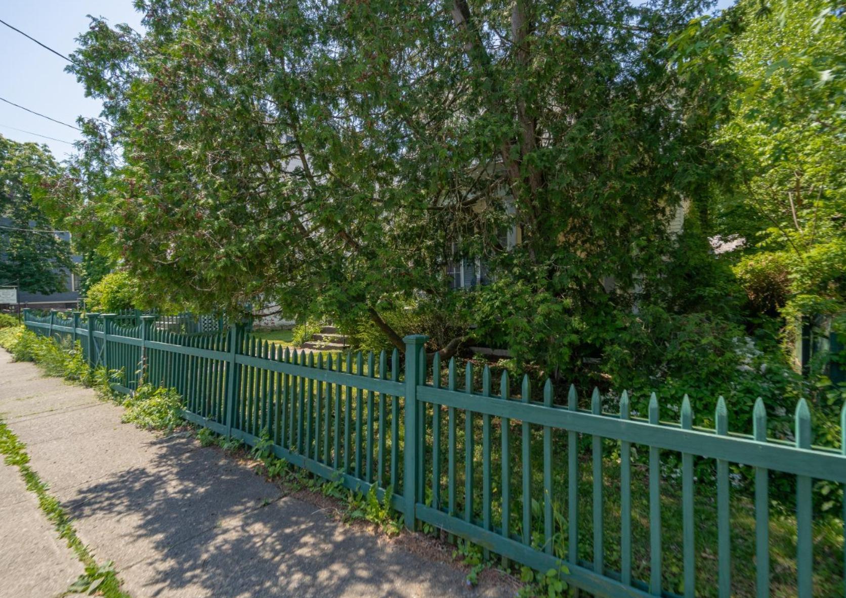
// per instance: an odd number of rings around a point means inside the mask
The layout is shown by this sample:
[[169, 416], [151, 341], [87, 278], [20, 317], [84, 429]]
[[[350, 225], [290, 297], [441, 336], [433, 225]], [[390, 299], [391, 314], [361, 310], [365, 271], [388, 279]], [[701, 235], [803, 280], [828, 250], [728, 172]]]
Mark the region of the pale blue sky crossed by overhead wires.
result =
[[[725, 8], [733, 0], [718, 0]], [[67, 56], [74, 51], [74, 38], [88, 28], [87, 14], [102, 16], [111, 23], [129, 23], [140, 30], [140, 13], [132, 0], [3, 0], [0, 19]], [[0, 24], [0, 97], [59, 121], [74, 124], [76, 117], [96, 117], [100, 102], [86, 98], [67, 64], [23, 35]], [[30, 131], [72, 142], [79, 133], [45, 118], [0, 102], [0, 133], [16, 141], [47, 144], [62, 160], [73, 150], [69, 144], [44, 139]]]

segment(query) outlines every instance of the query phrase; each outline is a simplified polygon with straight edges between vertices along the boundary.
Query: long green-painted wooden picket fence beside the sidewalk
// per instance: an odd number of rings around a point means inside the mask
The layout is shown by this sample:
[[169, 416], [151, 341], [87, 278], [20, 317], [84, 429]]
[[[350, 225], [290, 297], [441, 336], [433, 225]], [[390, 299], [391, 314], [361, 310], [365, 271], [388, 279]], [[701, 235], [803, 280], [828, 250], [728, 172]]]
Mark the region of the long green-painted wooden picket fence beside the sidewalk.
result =
[[[728, 432], [722, 400], [716, 429], [705, 430], [693, 426], [686, 401], [670, 424], [658, 420], [654, 396], [644, 419], [630, 413], [625, 394], [618, 414], [603, 412], [596, 391], [582, 410], [574, 388], [567, 405], [555, 405], [552, 383], [533, 400], [529, 378], [514, 389], [507, 373], [495, 394], [488, 368], [477, 375], [472, 363], [454, 360], [442, 367], [437, 356], [429, 364], [419, 335], [406, 337], [406, 356], [416, 358], [401, 364], [397, 351], [324, 358], [280, 351], [236, 327], [178, 334], [156, 316], [129, 326], [115, 318], [25, 311], [27, 328], [79, 341], [91, 367], [120, 370], [118, 390], [142, 380], [177, 389], [189, 421], [252, 446], [270, 440], [277, 457], [356, 491], [376, 485], [382, 497], [391, 488], [409, 528], [440, 528], [599, 596], [843, 594], [843, 527], [835, 540], [815, 537], [812, 484], [846, 485], [846, 443], [839, 451], [811, 446], [804, 400], [795, 442], [784, 443], [767, 438], [760, 401], [755, 433], [744, 436]], [[669, 455], [680, 465], [667, 475]], [[713, 465], [716, 487], [704, 497], [695, 478], [703, 462]], [[751, 540], [733, 490], [742, 474], [731, 464], [752, 468]], [[790, 565], [783, 552], [770, 559], [771, 533], [783, 535], [772, 520], [774, 476], [795, 483]], [[714, 546], [703, 546], [703, 519], [716, 528]], [[681, 537], [668, 541], [676, 528]], [[738, 559], [750, 543], [751, 554]], [[750, 562], [753, 575], [733, 575]], [[785, 569], [795, 570], [792, 583], [776, 584]]]

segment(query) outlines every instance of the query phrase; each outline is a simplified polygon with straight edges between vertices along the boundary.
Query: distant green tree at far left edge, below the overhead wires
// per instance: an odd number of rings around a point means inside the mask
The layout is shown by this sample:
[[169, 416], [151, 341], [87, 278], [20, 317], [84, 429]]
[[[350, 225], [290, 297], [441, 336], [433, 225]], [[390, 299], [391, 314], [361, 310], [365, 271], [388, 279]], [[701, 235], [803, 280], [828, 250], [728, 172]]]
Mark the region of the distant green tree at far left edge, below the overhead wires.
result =
[[0, 285], [49, 294], [65, 291], [70, 242], [52, 232], [52, 221], [32, 198], [58, 165], [49, 150], [0, 135]]

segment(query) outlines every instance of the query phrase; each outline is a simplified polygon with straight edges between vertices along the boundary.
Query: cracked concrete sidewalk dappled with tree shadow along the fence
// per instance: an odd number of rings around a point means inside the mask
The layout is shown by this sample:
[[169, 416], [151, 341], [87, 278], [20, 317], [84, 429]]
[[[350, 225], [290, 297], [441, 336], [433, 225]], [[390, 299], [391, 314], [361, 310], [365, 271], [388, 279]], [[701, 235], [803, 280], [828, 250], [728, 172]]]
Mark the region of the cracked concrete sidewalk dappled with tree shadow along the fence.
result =
[[[159, 438], [122, 424], [122, 411], [0, 351], [0, 417], [26, 444], [31, 467], [69, 510], [97, 562], [113, 560], [135, 598], [514, 595], [497, 584], [468, 589], [459, 568], [283, 496], [193, 438]], [[0, 478], [0, 507], [33, 500], [23, 484], [6, 483], [8, 473]], [[0, 511], [0, 520], [7, 514]], [[55, 595], [81, 572], [65, 554], [51, 567], [61, 583], [48, 583], [22, 557], [21, 542], [7, 542], [0, 530], [0, 571], [41, 584], [15, 595]], [[23, 552], [45, 541], [32, 525], [19, 535], [31, 536]]]

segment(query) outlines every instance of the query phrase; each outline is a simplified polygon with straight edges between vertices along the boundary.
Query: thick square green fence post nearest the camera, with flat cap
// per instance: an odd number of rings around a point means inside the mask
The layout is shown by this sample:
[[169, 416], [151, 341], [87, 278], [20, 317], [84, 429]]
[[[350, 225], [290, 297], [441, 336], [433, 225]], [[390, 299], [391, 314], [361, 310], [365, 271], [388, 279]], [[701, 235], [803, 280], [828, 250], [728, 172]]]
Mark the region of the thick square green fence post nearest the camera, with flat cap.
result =
[[417, 385], [426, 382], [426, 372], [421, 372], [420, 351], [429, 337], [424, 334], [409, 334], [405, 341], [405, 443], [403, 496], [405, 497], [405, 526], [415, 529], [415, 507], [417, 504], [417, 436], [420, 433], [417, 421]]

